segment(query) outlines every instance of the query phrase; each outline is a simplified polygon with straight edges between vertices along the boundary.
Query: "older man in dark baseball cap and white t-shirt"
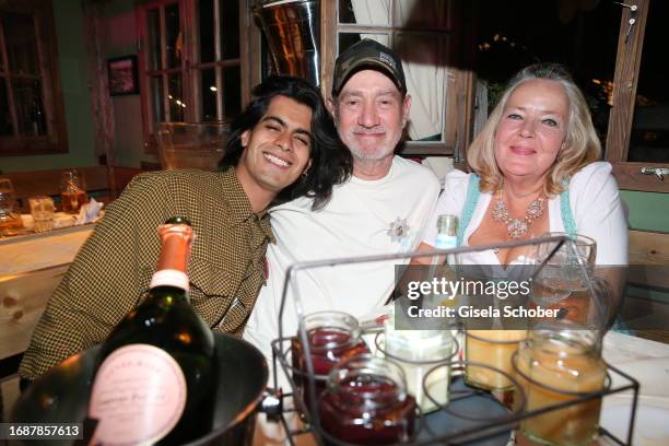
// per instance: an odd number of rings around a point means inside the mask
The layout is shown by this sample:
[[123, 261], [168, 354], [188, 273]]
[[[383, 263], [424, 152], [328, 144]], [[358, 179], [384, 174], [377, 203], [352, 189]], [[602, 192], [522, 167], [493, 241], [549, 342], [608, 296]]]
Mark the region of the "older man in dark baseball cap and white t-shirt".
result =
[[[330, 201], [312, 211], [309, 199], [270, 210], [277, 244], [268, 247], [269, 279], [246, 326], [245, 339], [271, 359], [278, 337], [285, 272], [297, 261], [415, 249], [435, 206], [439, 185], [427, 167], [395, 155], [411, 107], [402, 62], [388, 47], [364, 39], [334, 66], [328, 108], [339, 137], [353, 154], [353, 176], [336, 186]], [[334, 309], [365, 319], [383, 312], [396, 261], [300, 271], [304, 314]], [[287, 290], [283, 336], [294, 336], [295, 287]]]

